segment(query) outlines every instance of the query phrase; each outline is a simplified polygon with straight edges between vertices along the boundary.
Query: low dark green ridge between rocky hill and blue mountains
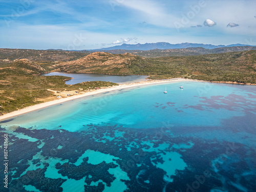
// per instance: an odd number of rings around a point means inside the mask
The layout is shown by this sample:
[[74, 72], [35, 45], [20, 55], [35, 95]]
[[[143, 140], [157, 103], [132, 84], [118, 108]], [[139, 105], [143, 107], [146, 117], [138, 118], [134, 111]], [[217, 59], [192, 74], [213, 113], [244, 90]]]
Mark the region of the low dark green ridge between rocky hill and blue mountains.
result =
[[103, 50], [103, 51], [65, 51], [65, 50], [32, 50], [32, 49], [1, 49], [0, 48], [0, 65], [1, 62], [15, 61], [20, 58], [26, 58], [36, 61], [71, 61], [82, 58], [94, 52], [108, 52], [112, 54], [132, 53], [133, 55], [157, 58], [169, 56], [193, 56], [205, 54], [219, 54], [228, 52], [240, 52], [256, 50], [256, 46], [236, 46], [236, 47], [222, 47], [215, 49], [205, 49], [202, 47], [184, 48], [184, 49], [153, 49], [153, 50]]

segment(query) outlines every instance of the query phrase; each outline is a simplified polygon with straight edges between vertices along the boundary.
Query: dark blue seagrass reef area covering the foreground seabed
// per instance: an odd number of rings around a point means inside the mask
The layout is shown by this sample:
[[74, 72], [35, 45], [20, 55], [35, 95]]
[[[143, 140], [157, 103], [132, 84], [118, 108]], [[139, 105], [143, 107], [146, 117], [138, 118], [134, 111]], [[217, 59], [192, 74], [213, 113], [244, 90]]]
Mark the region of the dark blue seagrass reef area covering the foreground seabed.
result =
[[[127, 186], [126, 192], [163, 191], [164, 187], [166, 192], [186, 191], [188, 186], [194, 189], [195, 182], [199, 182], [200, 179], [201, 183], [197, 191], [210, 191], [213, 188], [236, 191], [237, 188], [230, 185], [230, 182], [241, 184], [248, 191], [253, 191], [255, 188], [253, 182], [256, 175], [256, 167], [253, 166], [256, 158], [254, 148], [237, 142], [181, 136], [184, 132], [188, 135], [200, 132], [202, 127], [170, 126], [165, 129], [145, 130], [109, 124], [89, 124], [83, 127], [84, 130], [81, 132], [31, 130], [18, 127], [13, 134], [9, 134], [11, 143], [9, 146], [11, 150], [10, 188], [13, 191], [17, 189], [25, 192], [24, 186], [32, 185], [40, 191], [62, 191], [61, 184], [66, 179], [47, 178], [45, 172], [49, 166], [58, 169], [62, 177], [67, 176], [75, 180], [85, 178], [84, 190], [86, 191], [103, 191], [105, 186], [111, 186], [112, 182], [118, 178], [110, 174], [108, 170], [117, 166], [129, 177], [129, 180], [121, 179]], [[204, 127], [204, 129], [218, 130], [220, 128]], [[5, 129], [0, 126], [0, 130], [3, 136]], [[160, 130], [162, 130], [161, 133]], [[124, 132], [123, 137], [115, 137], [116, 132]], [[18, 139], [15, 136], [16, 133], [22, 133], [37, 141]], [[3, 137], [0, 137], [0, 142], [4, 142]], [[194, 145], [190, 145], [189, 142]], [[164, 148], [161, 147], [163, 144]], [[175, 148], [174, 144], [186, 144], [190, 145], [190, 148]], [[38, 148], [39, 145], [40, 148]], [[109, 154], [116, 158], [112, 159], [113, 163], [103, 161], [94, 165], [88, 163], [89, 158], [86, 157], [80, 165], [76, 166], [74, 163], [87, 150]], [[166, 181], [164, 179], [166, 170], [156, 166], [156, 164], [165, 163], [163, 156], [170, 152], [179, 153], [187, 165], [184, 170], [176, 169], [176, 174], [170, 177], [173, 182]], [[38, 153], [44, 158], [33, 159]], [[52, 164], [52, 158], [59, 158], [59, 163]], [[170, 156], [167, 159], [173, 161]], [[44, 168], [36, 167], [35, 170], [29, 170], [20, 177], [30, 163]], [[0, 172], [3, 172], [2, 167], [0, 167]], [[98, 182], [98, 184], [94, 186], [91, 185], [92, 182]]]

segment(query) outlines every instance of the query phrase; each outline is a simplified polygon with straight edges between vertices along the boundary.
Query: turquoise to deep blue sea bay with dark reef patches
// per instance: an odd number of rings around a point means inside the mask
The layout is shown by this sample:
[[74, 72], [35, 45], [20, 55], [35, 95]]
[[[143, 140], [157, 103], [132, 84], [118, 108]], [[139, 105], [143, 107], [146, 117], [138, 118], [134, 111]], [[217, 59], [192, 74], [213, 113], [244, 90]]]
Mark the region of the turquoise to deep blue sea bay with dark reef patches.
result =
[[254, 191], [256, 87], [180, 83], [120, 89], [1, 121], [13, 151], [10, 185]]

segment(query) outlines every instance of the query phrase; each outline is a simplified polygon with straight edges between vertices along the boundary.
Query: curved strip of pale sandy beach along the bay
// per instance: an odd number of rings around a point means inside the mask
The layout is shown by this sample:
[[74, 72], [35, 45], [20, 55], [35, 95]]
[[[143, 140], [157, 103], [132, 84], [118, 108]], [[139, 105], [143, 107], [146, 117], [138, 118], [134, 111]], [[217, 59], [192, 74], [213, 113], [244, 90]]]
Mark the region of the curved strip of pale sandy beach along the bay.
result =
[[89, 95], [95, 95], [95, 94], [99, 94], [99, 93], [103, 93], [103, 92], [109, 92], [109, 91], [131, 88], [131, 87], [136, 87], [136, 86], [144, 86], [144, 85], [147, 85], [147, 84], [177, 82], [177, 81], [195, 81], [195, 80], [177, 78], [177, 79], [169, 79], [169, 80], [150, 80], [150, 81], [127, 83], [127, 84], [119, 84], [119, 86], [113, 86], [113, 87], [110, 87], [110, 88], [101, 88], [101, 89], [98, 89], [98, 90], [93, 90], [93, 91], [86, 92], [86, 93], [81, 94], [81, 95], [74, 95], [74, 96], [70, 96], [70, 97], [67, 97], [67, 98], [59, 98], [59, 99], [56, 99], [56, 100], [53, 100], [53, 101], [44, 102], [44, 103], [36, 104], [36, 105], [33, 105], [33, 106], [28, 106], [27, 108], [2, 115], [2, 116], [0, 116], [0, 120], [7, 119], [7, 118], [17, 116], [17, 115], [21, 115], [21, 114], [24, 114], [24, 113], [28, 113], [28, 112], [38, 110], [38, 109], [41, 109], [41, 108], [45, 108], [47, 106], [58, 104], [58, 103], [61, 103], [61, 102], [65, 102], [65, 101], [69, 101], [69, 100], [89, 96]]

